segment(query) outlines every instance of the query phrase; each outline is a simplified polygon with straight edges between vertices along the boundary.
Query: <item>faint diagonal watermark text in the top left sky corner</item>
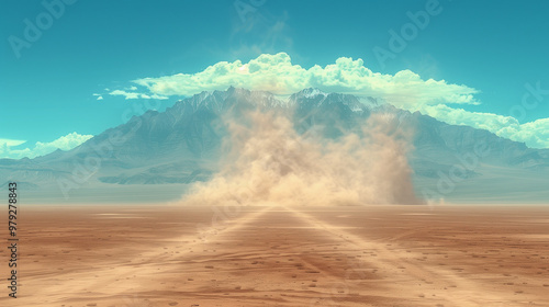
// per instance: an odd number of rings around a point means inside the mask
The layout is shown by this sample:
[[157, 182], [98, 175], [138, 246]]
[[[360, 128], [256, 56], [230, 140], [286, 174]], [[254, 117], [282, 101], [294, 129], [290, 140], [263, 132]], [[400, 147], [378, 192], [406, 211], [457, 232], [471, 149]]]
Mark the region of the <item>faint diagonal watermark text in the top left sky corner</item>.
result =
[[44, 31], [54, 25], [54, 21], [60, 19], [66, 11], [66, 5], [72, 5], [77, 0], [44, 0], [42, 1], [42, 7], [44, 11], [38, 13], [33, 20], [24, 19], [23, 23], [25, 29], [23, 30], [23, 35], [15, 36], [10, 35], [8, 42], [10, 43], [11, 49], [18, 59], [21, 58], [21, 50], [23, 48], [31, 48], [33, 43], [36, 43]]

